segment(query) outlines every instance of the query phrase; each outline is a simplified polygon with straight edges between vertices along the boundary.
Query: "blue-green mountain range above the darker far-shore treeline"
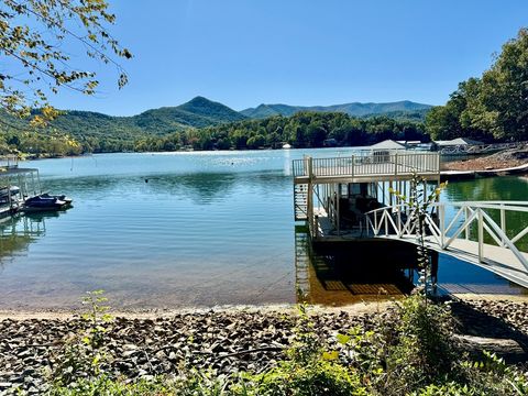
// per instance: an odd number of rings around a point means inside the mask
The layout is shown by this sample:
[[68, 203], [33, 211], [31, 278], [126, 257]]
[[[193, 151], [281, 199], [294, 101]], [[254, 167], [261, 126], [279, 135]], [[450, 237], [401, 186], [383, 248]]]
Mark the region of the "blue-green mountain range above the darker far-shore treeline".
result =
[[[67, 110], [54, 120], [51, 127], [73, 136], [114, 135], [119, 139], [133, 139], [145, 134], [164, 135], [187, 128], [204, 128], [248, 119], [263, 119], [271, 116], [288, 117], [298, 111], [339, 111], [354, 117], [386, 114], [392, 118], [420, 120], [429, 109], [429, 105], [398, 101], [312, 107], [261, 105], [239, 112], [222, 103], [204, 97], [196, 97], [184, 105], [151, 109], [132, 117], [113, 117], [92, 111]], [[28, 123], [26, 120], [14, 119], [6, 113], [0, 113], [0, 121], [2, 120], [19, 129], [26, 128]]]

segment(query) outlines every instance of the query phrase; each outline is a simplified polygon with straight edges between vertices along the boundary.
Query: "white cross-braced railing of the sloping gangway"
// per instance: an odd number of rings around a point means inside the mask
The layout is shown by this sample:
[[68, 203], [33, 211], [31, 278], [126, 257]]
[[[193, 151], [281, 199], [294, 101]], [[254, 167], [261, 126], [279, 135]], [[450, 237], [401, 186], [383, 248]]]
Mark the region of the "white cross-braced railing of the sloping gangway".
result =
[[[447, 207], [454, 208], [455, 215], [447, 217]], [[471, 239], [471, 229], [476, 226], [476, 241], [479, 243], [479, 262], [484, 262], [485, 233], [501, 248], [509, 250], [518, 262], [528, 272], [528, 260], [519, 249], [519, 241], [528, 235], [528, 201], [469, 201], [433, 204], [425, 216], [425, 231], [427, 241], [440, 250], [448, 250], [457, 240]], [[493, 219], [493, 211], [499, 213], [499, 220]], [[525, 221], [520, 222], [520, 230], [508, 237], [507, 213], [518, 212]], [[410, 208], [396, 205], [372, 210], [365, 213], [369, 232], [375, 237], [392, 237], [398, 239], [416, 239], [416, 221], [410, 215]], [[512, 230], [510, 230], [512, 231]]]

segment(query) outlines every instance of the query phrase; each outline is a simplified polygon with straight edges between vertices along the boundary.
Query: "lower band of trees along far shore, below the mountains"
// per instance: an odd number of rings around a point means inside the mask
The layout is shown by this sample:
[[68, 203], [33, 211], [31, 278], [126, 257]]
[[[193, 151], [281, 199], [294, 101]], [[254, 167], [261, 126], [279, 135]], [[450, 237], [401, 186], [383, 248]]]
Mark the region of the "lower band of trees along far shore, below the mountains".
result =
[[278, 148], [284, 143], [294, 147], [351, 146], [385, 139], [427, 141], [428, 135], [422, 123], [410, 120], [389, 117], [361, 119], [338, 112], [300, 112], [292, 117], [238, 121], [166, 135], [134, 134], [125, 139], [119, 139], [119, 134], [89, 135], [85, 132], [74, 138], [58, 131], [21, 132], [11, 129], [0, 134], [0, 151], [61, 156], [123, 151]]

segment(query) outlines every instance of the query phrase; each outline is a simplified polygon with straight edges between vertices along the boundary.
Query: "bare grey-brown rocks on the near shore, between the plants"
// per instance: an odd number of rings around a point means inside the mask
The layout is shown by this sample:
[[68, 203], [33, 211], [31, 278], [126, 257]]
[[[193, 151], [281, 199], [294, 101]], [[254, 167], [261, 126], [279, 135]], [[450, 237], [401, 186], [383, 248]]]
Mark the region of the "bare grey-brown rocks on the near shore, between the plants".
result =
[[[332, 344], [338, 332], [354, 326], [375, 330], [387, 315], [388, 306], [371, 307], [365, 311], [316, 309], [310, 318], [321, 339]], [[528, 302], [454, 300], [452, 311], [458, 333], [470, 337], [468, 342], [474, 344], [475, 337], [507, 340], [509, 345], [518, 346], [514, 360], [526, 361]], [[184, 363], [226, 374], [262, 372], [284, 358], [297, 318], [294, 308], [117, 317], [105, 333], [110, 358], [106, 370], [130, 380], [174, 374]], [[67, 343], [86, 329], [87, 321], [79, 317], [2, 319], [0, 394], [15, 387], [30, 394], [42, 393], [46, 387], [46, 371], [64, 361]], [[493, 349], [493, 342], [491, 345]], [[504, 354], [509, 350], [512, 348], [506, 346]]]

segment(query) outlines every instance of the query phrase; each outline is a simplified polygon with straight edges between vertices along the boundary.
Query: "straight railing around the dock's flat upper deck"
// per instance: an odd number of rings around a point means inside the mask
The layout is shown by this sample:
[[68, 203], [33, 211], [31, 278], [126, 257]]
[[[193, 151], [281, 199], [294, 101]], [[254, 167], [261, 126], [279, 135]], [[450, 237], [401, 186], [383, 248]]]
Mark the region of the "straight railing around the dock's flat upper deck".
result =
[[374, 151], [332, 158], [293, 161], [294, 177], [367, 176], [367, 175], [413, 175], [440, 172], [438, 153], [409, 153]]

